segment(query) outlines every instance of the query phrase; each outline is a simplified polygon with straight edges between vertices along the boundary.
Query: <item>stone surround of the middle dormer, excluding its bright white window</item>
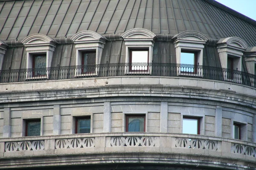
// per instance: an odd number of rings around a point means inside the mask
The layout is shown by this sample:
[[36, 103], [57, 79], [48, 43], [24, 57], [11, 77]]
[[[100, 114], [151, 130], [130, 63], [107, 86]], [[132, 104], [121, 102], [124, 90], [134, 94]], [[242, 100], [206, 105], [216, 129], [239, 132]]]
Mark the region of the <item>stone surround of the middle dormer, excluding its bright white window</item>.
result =
[[125, 74], [151, 74], [152, 66], [148, 65], [148, 71], [130, 71], [130, 49], [148, 49], [148, 63], [153, 59], [154, 39], [156, 35], [144, 28], [133, 28], [125, 31], [121, 37], [125, 41]]

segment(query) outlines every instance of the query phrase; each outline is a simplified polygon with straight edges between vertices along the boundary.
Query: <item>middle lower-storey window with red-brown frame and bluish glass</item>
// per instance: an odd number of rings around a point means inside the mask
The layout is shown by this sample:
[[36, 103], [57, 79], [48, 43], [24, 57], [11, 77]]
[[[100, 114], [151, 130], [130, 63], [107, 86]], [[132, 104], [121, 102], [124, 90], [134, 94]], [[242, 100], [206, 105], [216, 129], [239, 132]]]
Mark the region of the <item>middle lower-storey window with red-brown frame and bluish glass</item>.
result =
[[126, 132], [145, 132], [145, 115], [126, 115]]

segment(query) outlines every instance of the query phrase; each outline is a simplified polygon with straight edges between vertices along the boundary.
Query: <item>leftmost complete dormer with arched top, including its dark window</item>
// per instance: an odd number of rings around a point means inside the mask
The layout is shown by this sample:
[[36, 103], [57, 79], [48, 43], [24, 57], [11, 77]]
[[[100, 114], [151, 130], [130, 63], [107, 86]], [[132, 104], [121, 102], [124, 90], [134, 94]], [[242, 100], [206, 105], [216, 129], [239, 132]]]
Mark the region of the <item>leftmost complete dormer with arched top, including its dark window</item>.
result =
[[43, 34], [32, 34], [22, 40], [26, 47], [26, 79], [48, 79], [56, 41]]

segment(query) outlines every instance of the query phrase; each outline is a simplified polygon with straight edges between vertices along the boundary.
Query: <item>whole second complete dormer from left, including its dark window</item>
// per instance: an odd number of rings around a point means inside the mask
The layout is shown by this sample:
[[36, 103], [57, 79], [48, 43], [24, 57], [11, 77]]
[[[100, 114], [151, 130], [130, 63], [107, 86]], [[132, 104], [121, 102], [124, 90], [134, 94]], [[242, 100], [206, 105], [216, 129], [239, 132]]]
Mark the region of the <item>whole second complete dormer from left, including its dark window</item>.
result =
[[93, 31], [81, 31], [71, 37], [76, 44], [76, 77], [97, 76], [106, 38]]

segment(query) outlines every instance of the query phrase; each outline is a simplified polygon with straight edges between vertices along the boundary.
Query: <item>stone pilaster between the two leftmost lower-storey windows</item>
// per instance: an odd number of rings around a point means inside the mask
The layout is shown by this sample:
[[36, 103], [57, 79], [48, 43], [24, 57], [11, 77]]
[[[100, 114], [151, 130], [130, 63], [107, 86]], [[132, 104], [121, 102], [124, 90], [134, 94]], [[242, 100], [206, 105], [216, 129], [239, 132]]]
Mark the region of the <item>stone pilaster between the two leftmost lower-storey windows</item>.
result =
[[61, 134], [61, 108], [60, 105], [53, 105], [53, 135]]

